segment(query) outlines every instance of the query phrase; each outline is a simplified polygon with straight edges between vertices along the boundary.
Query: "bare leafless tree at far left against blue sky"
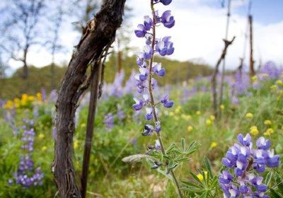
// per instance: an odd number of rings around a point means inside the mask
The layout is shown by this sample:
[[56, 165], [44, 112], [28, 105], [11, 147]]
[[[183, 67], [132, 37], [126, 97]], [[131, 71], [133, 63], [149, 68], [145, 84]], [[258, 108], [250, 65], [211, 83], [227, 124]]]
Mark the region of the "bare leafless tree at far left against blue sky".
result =
[[1, 50], [6, 56], [22, 62], [23, 78], [28, 78], [28, 52], [40, 44], [40, 23], [45, 0], [6, 1], [2, 7]]

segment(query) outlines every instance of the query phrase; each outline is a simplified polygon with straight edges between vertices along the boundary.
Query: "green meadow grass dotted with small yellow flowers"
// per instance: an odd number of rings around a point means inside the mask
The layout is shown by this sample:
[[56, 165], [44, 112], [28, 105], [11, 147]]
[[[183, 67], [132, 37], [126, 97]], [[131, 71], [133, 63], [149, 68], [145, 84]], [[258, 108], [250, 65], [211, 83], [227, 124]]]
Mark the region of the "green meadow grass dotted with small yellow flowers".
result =
[[[277, 95], [270, 91], [272, 82], [266, 82], [259, 91], [251, 90], [253, 96], [242, 96], [239, 105], [233, 105], [228, 99], [224, 100], [224, 110], [221, 118], [208, 125], [207, 120], [212, 115], [211, 94], [197, 93], [187, 98], [183, 104], [179, 103], [180, 93], [173, 88], [171, 98], [175, 100], [172, 109], [161, 111], [162, 136], [165, 146], [172, 142], [180, 145], [181, 137], [187, 142], [197, 141], [202, 146], [192, 155], [188, 163], [183, 163], [177, 169], [176, 175], [180, 180], [190, 180], [189, 171], [197, 173], [203, 168], [203, 158], [207, 156], [212, 162], [214, 173], [221, 168], [221, 158], [227, 149], [236, 143], [239, 133], [246, 134], [250, 127], [257, 126], [262, 136], [267, 128], [275, 132], [269, 137], [276, 153], [283, 154], [283, 104], [277, 100]], [[141, 136], [141, 130], [146, 123], [132, 120], [132, 97], [110, 98], [100, 101], [96, 119], [95, 134], [91, 151], [91, 164], [88, 177], [88, 197], [175, 197], [172, 183], [156, 170], [151, 170], [146, 161], [135, 164], [122, 162], [122, 158], [136, 153], [144, 153], [146, 147], [154, 144], [156, 136]], [[105, 129], [103, 116], [117, 112], [117, 105], [122, 105], [126, 117], [122, 121], [115, 118], [115, 127]], [[82, 107], [79, 124], [76, 126], [74, 141], [74, 166], [77, 181], [81, 173], [83, 156], [83, 139], [86, 131], [87, 107]], [[52, 104], [40, 105], [40, 115], [35, 118], [35, 151], [33, 159], [35, 167], [40, 166], [45, 173], [42, 187], [22, 188], [18, 185], [8, 185], [8, 179], [13, 177], [18, 167], [21, 155], [21, 138], [14, 136], [11, 127], [0, 118], [0, 197], [54, 197], [57, 192], [52, 182], [50, 165], [53, 159], [54, 144], [52, 139]], [[197, 115], [200, 111], [200, 115]], [[252, 113], [253, 118], [246, 118], [246, 113]], [[188, 117], [190, 115], [190, 117]], [[33, 110], [16, 110], [16, 125], [21, 127], [25, 117], [33, 118]], [[272, 125], [266, 126], [265, 120], [271, 120]], [[187, 127], [192, 126], [191, 132]], [[21, 131], [20, 131], [21, 132]], [[41, 135], [40, 135], [41, 134]], [[40, 139], [40, 136], [43, 138]], [[253, 138], [255, 139], [255, 137]], [[211, 147], [212, 142], [216, 143]], [[283, 175], [282, 168], [277, 171]]]

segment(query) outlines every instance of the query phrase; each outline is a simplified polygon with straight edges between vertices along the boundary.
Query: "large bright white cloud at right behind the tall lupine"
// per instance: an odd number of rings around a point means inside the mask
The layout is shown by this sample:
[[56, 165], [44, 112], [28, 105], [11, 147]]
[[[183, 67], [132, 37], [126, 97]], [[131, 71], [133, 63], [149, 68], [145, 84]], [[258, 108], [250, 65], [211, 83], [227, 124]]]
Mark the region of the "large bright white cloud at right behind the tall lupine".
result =
[[[139, 0], [132, 0], [132, 5]], [[221, 41], [225, 35], [226, 9], [206, 6], [212, 0], [179, 0], [173, 1], [171, 6], [161, 6], [162, 10], [170, 8], [175, 16], [176, 25], [172, 29], [158, 29], [158, 35], [172, 35], [175, 44], [175, 54], [172, 59], [189, 60], [204, 59], [214, 66], [224, 46]], [[247, 4], [247, 1], [233, 1], [232, 13], [239, 6]], [[139, 6], [139, 11], [133, 19], [133, 28], [141, 23], [142, 15], [149, 13], [146, 4]], [[146, 12], [147, 11], [147, 12]], [[255, 18], [256, 21], [256, 18]], [[229, 48], [226, 62], [229, 69], [234, 69], [239, 64], [239, 57], [243, 54], [247, 19], [233, 13], [229, 28], [229, 38], [236, 36], [236, 40]], [[273, 60], [277, 64], [283, 63], [283, 21], [272, 25], [254, 23], [254, 54], [255, 60], [262, 62]], [[142, 45], [141, 40], [132, 41], [131, 45]], [[249, 45], [247, 45], [247, 52]]]

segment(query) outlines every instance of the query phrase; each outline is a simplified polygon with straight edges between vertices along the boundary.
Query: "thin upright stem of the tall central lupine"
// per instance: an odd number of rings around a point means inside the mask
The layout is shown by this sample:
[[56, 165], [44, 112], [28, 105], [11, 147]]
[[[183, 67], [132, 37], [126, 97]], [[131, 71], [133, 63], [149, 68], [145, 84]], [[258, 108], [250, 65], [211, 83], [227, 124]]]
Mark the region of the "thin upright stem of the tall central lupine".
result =
[[[151, 47], [152, 47], [152, 50], [154, 50], [154, 46], [155, 46], [155, 40], [156, 40], [156, 17], [155, 17], [155, 10], [154, 10], [154, 0], [151, 0], [151, 11], [152, 11], [152, 19], [154, 21], [154, 26], [152, 28], [152, 42], [151, 42]], [[157, 126], [159, 124], [159, 120], [158, 120], [158, 117], [156, 115], [156, 104], [154, 103], [154, 93], [152, 91], [152, 85], [151, 85], [151, 82], [152, 82], [152, 64], [154, 62], [154, 55], [151, 57], [150, 59], [150, 62], [149, 62], [149, 96], [150, 96], [150, 99], [151, 99], [151, 108], [152, 108], [152, 112], [154, 114], [154, 123], [155, 125]], [[161, 146], [161, 152], [163, 153], [164, 156], [166, 156], [166, 151], [165, 151], [165, 148], [163, 146], [163, 141], [162, 141], [162, 137], [161, 137], [161, 132], [156, 132], [157, 134], [157, 137], [158, 137], [158, 141], [160, 143], [160, 146]], [[174, 181], [174, 185], [178, 191], [178, 196], [180, 198], [183, 197], [183, 194], [180, 190], [180, 185], [179, 185], [179, 182], [175, 176], [175, 173], [173, 170], [170, 170], [170, 174], [172, 175], [172, 178], [173, 178], [173, 181]]]

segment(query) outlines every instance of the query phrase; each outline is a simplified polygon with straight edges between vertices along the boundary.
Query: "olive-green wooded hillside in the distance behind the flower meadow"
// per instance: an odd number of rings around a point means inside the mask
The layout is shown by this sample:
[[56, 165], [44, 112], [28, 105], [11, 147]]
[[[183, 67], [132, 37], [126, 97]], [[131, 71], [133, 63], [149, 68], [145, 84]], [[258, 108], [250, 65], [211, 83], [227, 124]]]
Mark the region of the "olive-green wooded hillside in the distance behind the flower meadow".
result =
[[[191, 62], [178, 62], [164, 58], [156, 58], [155, 62], [162, 62], [166, 68], [166, 78], [158, 79], [160, 85], [165, 83], [180, 83], [189, 78], [196, 76], [208, 76], [212, 74], [212, 69], [209, 66], [202, 64], [192, 64]], [[64, 75], [66, 67], [55, 67], [55, 82], [59, 87], [59, 83]], [[131, 74], [132, 69], [137, 70], [136, 57], [125, 57], [122, 60], [122, 69], [125, 71], [126, 79]], [[105, 68], [105, 81], [112, 82], [117, 72], [117, 58], [112, 54]], [[51, 91], [51, 73], [50, 66], [37, 68], [35, 66], [29, 67], [29, 77], [23, 81], [21, 78], [21, 69], [18, 69], [11, 78], [0, 79], [0, 98], [14, 98], [19, 97], [23, 93], [35, 94], [45, 88], [47, 93]]]

